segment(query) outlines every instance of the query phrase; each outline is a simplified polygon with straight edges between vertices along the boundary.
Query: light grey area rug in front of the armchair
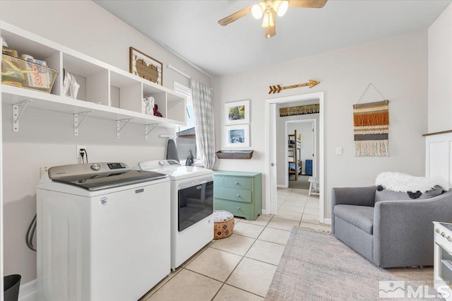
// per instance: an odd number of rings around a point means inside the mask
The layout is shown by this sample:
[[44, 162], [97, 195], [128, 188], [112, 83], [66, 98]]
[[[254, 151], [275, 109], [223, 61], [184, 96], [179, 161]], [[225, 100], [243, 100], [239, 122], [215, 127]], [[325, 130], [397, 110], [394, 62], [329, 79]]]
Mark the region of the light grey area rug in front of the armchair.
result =
[[[420, 287], [421, 286], [421, 287]], [[293, 227], [266, 300], [443, 300], [433, 268], [379, 268], [332, 234]]]

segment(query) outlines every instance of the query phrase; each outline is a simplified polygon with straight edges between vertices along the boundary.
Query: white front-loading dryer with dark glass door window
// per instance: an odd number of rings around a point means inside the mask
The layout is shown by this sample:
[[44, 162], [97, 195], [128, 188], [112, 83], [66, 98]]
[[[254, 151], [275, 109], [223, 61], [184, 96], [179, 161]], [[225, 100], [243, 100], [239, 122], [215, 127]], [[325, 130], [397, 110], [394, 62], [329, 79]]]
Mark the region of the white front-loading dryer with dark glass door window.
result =
[[171, 268], [213, 240], [213, 171], [176, 160], [138, 163], [171, 179]]

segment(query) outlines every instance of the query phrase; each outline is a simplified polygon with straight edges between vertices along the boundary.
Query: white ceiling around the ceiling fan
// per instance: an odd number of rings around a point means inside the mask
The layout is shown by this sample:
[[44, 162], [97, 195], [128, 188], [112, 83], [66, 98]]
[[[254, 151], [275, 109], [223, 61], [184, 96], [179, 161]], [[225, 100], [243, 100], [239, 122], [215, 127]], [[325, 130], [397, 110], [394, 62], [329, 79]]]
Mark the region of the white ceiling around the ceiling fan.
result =
[[426, 29], [452, 0], [328, 0], [323, 8], [289, 8], [269, 39], [251, 14], [218, 24], [258, 1], [94, 1], [208, 75], [222, 76]]

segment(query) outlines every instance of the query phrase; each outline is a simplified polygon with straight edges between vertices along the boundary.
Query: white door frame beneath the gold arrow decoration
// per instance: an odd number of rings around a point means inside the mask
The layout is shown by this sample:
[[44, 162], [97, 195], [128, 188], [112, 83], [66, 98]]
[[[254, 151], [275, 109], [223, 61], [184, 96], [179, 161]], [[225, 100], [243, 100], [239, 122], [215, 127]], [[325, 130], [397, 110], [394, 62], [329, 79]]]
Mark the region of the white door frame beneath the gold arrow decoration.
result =
[[[266, 99], [266, 211], [267, 214], [276, 214], [278, 201], [276, 195], [276, 105], [287, 102], [301, 102], [307, 100], [319, 100], [319, 221], [325, 222], [325, 191], [324, 191], [324, 122], [325, 111], [324, 92], [297, 94], [282, 98]], [[273, 164], [273, 166], [272, 166]]]

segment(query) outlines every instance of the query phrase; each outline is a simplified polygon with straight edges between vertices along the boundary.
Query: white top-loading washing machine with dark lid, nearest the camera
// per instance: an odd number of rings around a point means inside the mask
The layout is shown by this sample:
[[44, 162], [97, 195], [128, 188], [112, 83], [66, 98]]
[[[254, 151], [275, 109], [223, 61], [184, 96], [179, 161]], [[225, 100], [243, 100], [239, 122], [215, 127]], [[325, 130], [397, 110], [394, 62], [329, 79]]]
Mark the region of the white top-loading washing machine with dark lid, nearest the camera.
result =
[[138, 300], [171, 271], [169, 201], [157, 172], [50, 168], [37, 185], [38, 299]]

